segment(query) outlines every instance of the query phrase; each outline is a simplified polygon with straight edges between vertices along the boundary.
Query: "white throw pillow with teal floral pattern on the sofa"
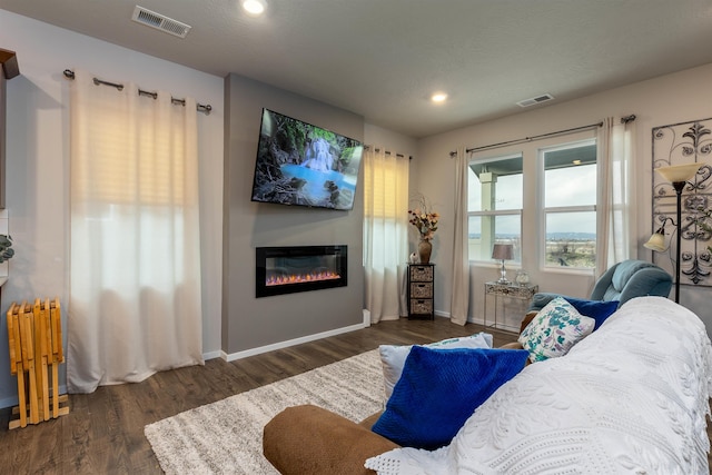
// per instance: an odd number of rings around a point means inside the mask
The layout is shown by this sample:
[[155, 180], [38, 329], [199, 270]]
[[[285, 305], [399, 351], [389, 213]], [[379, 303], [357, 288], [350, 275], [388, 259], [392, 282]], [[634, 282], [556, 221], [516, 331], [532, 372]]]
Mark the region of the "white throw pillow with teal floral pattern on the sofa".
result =
[[593, 331], [595, 320], [581, 315], [573, 305], [556, 297], [536, 314], [520, 335], [520, 343], [530, 352], [530, 360], [564, 356], [572, 346]]

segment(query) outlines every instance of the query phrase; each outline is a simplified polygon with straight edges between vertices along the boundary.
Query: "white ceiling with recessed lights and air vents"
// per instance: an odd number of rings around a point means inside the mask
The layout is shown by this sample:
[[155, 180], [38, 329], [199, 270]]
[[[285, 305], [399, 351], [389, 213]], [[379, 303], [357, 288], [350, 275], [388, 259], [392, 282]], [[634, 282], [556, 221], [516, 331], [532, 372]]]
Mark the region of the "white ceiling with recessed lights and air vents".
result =
[[[224, 77], [314, 98], [412, 137], [712, 62], [710, 0], [138, 0], [192, 28], [131, 21], [136, 1], [0, 0], [0, 8]], [[435, 90], [448, 93], [433, 105]]]

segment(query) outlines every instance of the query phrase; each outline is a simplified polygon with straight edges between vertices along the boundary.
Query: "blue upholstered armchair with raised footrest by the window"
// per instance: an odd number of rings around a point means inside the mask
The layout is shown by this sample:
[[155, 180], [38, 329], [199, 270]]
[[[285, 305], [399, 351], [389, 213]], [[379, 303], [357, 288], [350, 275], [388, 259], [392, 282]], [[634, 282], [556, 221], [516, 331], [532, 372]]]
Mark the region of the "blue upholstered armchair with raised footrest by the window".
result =
[[[634, 297], [654, 295], [668, 297], [672, 276], [654, 264], [629, 259], [614, 264], [596, 281], [591, 300], [619, 301], [619, 306]], [[538, 311], [560, 294], [540, 293], [532, 298], [528, 311]], [[566, 297], [566, 296], [562, 296]]]

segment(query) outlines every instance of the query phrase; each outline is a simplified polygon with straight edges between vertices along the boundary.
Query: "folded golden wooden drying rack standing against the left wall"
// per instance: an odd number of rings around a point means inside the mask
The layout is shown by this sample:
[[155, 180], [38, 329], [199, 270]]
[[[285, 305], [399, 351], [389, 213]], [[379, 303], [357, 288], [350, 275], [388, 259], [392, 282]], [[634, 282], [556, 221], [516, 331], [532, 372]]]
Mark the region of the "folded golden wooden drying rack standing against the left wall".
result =
[[59, 365], [65, 363], [59, 298], [36, 298], [34, 305], [13, 301], [7, 317], [10, 373], [18, 377], [19, 400], [12, 408], [19, 418], [10, 420], [10, 428], [69, 414], [68, 397], [59, 394]]

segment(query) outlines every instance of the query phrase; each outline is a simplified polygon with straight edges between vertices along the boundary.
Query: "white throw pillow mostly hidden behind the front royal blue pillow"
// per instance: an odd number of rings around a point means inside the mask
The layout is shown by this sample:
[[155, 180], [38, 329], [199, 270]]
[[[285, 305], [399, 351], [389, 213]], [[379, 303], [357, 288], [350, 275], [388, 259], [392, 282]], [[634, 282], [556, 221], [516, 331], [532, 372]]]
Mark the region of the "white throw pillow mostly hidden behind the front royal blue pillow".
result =
[[[478, 333], [472, 336], [459, 338], [448, 338], [442, 342], [431, 343], [428, 348], [492, 348], [493, 338], [487, 333]], [[380, 363], [383, 364], [384, 388], [386, 399], [393, 394], [393, 387], [400, 379], [405, 359], [411, 353], [413, 345], [380, 345]]]

